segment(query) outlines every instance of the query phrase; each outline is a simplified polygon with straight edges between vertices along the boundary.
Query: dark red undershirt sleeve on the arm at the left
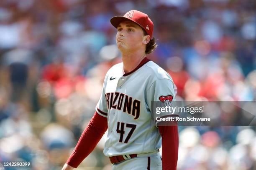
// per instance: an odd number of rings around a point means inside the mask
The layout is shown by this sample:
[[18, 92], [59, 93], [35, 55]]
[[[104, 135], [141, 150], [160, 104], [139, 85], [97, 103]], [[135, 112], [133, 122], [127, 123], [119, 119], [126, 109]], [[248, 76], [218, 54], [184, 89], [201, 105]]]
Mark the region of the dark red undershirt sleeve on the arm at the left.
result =
[[84, 129], [72, 154], [67, 160], [67, 164], [73, 168], [77, 168], [84, 158], [94, 150], [107, 129], [108, 118], [95, 112], [89, 124]]

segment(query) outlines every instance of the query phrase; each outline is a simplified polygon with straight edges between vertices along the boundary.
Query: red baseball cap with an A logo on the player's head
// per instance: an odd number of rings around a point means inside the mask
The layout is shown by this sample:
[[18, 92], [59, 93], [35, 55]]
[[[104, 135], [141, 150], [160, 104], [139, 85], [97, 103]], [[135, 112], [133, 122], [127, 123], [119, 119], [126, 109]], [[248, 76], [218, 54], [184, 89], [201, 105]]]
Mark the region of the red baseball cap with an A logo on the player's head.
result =
[[153, 39], [153, 29], [154, 29], [154, 24], [151, 21], [151, 19], [148, 17], [147, 14], [142, 13], [137, 10], [130, 10], [128, 11], [125, 15], [122, 16], [115, 16], [110, 19], [110, 23], [117, 28], [118, 25], [125, 20], [132, 21], [133, 23], [136, 23], [145, 30], [148, 35], [150, 36], [151, 39]]

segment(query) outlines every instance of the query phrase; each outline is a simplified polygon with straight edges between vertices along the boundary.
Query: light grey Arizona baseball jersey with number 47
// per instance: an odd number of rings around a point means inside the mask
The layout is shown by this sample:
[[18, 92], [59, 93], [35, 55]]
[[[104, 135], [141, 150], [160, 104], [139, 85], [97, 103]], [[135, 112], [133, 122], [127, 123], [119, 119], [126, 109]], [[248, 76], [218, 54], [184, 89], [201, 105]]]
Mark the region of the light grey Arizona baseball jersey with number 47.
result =
[[108, 117], [104, 155], [151, 153], [161, 147], [161, 134], [151, 111], [151, 101], [174, 96], [172, 77], [145, 57], [133, 71], [123, 74], [123, 63], [108, 70], [98, 114]]

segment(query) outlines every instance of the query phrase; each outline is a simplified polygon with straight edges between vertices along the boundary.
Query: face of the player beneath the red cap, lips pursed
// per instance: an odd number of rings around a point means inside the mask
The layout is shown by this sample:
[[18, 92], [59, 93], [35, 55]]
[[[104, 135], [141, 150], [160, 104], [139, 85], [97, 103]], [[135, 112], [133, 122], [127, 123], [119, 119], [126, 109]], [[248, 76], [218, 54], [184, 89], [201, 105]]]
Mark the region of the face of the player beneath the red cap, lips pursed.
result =
[[120, 50], [138, 50], [143, 48], [150, 39], [143, 34], [142, 28], [131, 21], [123, 21], [118, 25], [116, 44]]

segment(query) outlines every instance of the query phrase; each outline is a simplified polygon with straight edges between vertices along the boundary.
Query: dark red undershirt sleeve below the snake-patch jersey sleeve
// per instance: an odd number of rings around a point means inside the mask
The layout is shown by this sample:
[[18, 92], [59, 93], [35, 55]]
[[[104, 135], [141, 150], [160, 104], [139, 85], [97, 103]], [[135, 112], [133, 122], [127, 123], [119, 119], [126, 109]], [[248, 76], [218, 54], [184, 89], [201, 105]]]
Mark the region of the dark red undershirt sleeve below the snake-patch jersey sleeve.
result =
[[163, 170], [176, 170], [179, 148], [178, 126], [159, 126], [159, 131], [162, 137]]

